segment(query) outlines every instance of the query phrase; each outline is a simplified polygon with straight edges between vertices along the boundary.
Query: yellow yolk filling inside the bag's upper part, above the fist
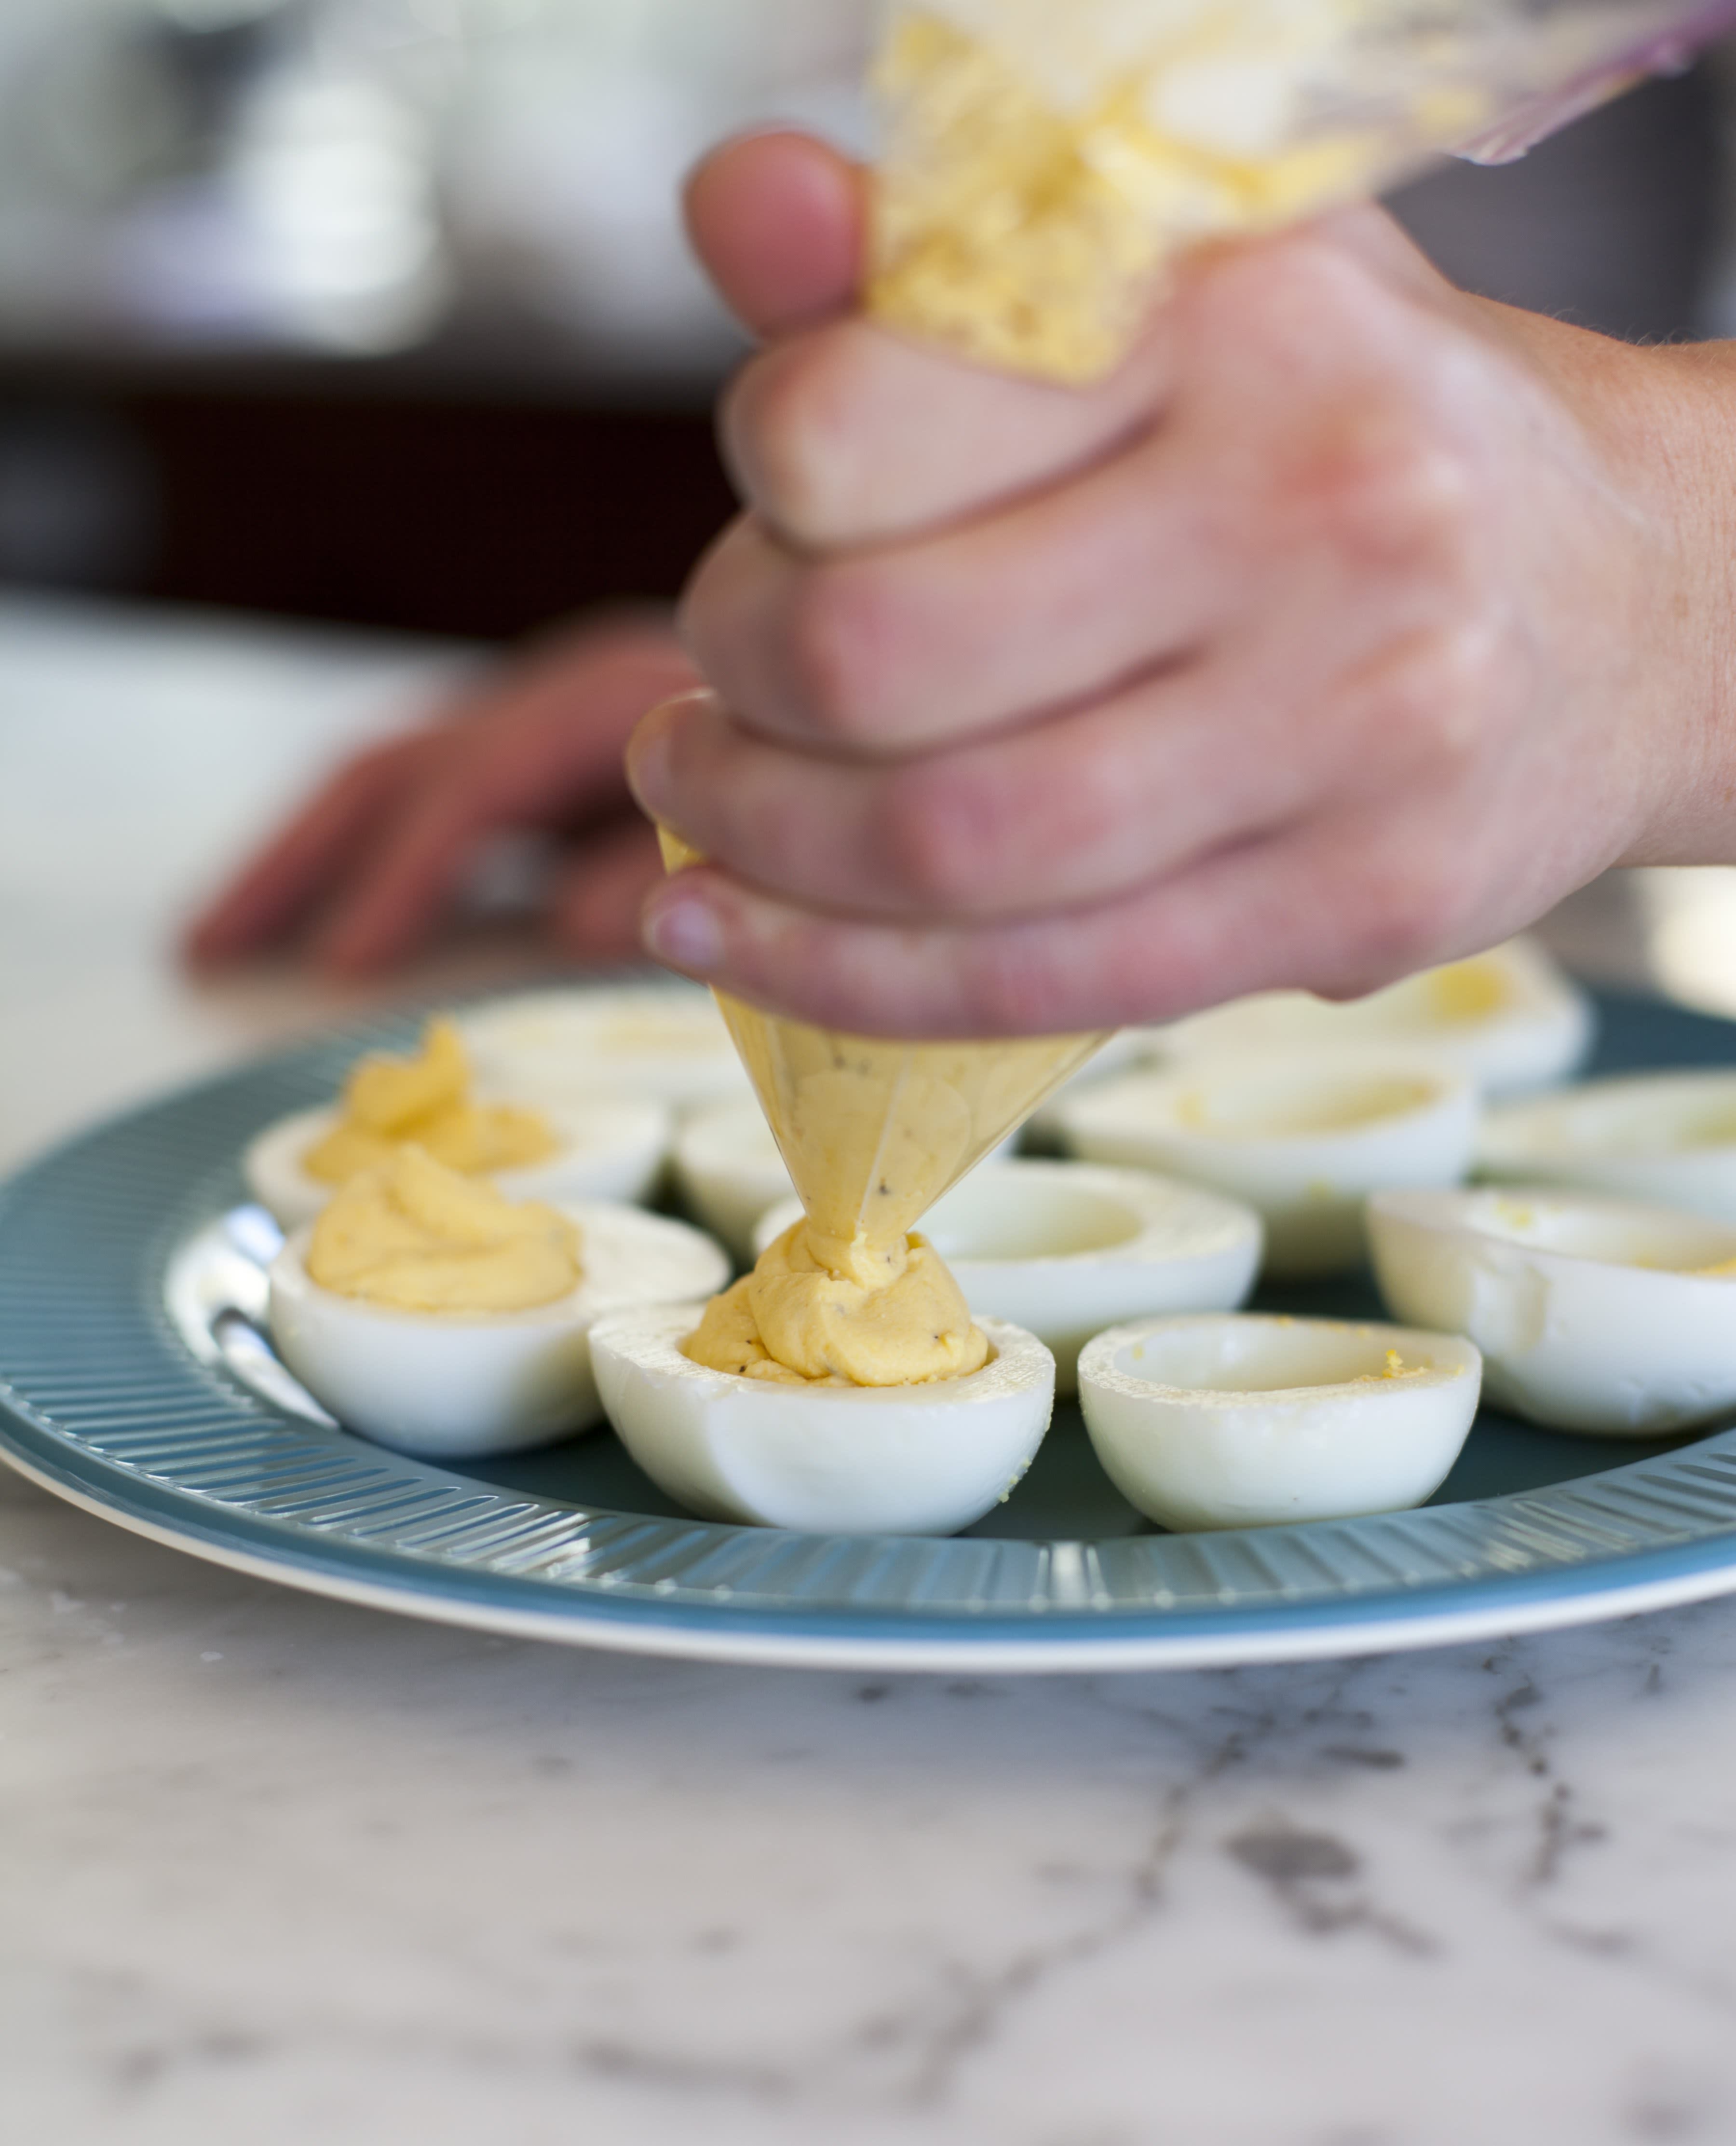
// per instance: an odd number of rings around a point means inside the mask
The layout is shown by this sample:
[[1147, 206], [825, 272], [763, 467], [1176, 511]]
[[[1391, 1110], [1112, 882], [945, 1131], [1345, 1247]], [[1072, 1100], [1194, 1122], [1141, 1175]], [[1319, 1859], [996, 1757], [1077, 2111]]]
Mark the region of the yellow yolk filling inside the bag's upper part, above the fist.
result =
[[876, 69], [869, 309], [985, 365], [1097, 380], [1185, 247], [1474, 135], [1483, 45], [1481, 17], [1406, 41], [1384, 0], [1169, 0], [1137, 21], [1109, 0], [908, 0]]

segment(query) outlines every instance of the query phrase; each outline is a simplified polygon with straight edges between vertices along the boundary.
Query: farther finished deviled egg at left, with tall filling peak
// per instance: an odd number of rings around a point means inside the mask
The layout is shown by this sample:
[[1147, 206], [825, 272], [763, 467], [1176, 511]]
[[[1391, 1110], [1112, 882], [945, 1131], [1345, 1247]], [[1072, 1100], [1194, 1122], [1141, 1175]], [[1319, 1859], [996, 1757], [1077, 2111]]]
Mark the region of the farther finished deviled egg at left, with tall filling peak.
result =
[[412, 1056], [363, 1058], [339, 1103], [268, 1125], [242, 1174], [283, 1230], [311, 1221], [339, 1187], [408, 1144], [464, 1176], [491, 1178], [513, 1200], [631, 1202], [657, 1187], [670, 1137], [670, 1107], [644, 1097], [528, 1105], [474, 1088], [457, 1024], [436, 1017]]

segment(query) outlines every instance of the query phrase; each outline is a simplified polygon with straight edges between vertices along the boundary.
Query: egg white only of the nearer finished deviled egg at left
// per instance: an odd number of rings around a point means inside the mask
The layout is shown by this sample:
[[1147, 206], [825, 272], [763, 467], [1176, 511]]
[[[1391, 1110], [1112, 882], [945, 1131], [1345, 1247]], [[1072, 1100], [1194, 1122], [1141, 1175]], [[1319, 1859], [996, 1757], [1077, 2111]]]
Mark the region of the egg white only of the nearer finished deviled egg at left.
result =
[[584, 1279], [534, 1311], [399, 1311], [322, 1290], [311, 1225], [270, 1266], [270, 1339], [288, 1369], [352, 1431], [421, 1459], [551, 1444], [601, 1419], [590, 1328], [622, 1305], [723, 1288], [730, 1262], [685, 1223], [637, 1208], [562, 1202], [579, 1225]]

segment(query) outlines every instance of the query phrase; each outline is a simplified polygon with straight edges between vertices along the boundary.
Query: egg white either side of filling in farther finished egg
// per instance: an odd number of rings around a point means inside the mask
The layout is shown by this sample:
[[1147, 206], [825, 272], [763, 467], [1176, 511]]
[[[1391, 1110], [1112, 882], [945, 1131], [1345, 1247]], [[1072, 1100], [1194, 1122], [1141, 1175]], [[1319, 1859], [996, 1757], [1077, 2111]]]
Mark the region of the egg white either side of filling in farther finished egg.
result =
[[[481, 1103], [504, 1097], [479, 1097]], [[517, 1097], [513, 1099], [517, 1101]], [[670, 1109], [629, 1097], [590, 1097], [582, 1103], [536, 1103], [539, 1116], [560, 1142], [560, 1152], [524, 1170], [494, 1170], [489, 1182], [509, 1200], [646, 1200], [663, 1174], [670, 1152]], [[337, 1127], [343, 1112], [298, 1109], [268, 1125], [242, 1155], [249, 1193], [277, 1219], [281, 1230], [313, 1221], [337, 1185], [322, 1185], [303, 1170], [307, 1150]]]

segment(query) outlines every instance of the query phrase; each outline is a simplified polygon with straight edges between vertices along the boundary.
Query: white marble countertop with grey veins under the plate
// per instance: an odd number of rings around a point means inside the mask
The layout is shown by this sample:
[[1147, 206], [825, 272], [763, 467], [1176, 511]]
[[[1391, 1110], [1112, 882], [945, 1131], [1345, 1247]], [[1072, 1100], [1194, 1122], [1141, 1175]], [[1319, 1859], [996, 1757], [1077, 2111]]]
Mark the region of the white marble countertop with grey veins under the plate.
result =
[[[440, 652], [0, 605], [0, 1148], [335, 1011], [165, 936]], [[0, 2135], [1736, 2135], [1736, 1601], [1174, 1676], [517, 1644], [0, 1472]]]

